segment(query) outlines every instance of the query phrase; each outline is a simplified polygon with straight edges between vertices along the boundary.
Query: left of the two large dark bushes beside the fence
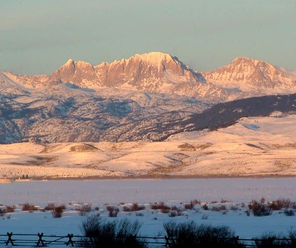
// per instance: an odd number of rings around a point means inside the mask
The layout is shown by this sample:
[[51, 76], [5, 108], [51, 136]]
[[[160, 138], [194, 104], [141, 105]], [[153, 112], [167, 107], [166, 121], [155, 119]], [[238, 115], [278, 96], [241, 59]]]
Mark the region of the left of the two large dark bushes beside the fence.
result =
[[81, 232], [86, 239], [81, 240], [82, 247], [88, 248], [146, 248], [143, 239], [136, 238], [141, 224], [127, 219], [106, 221], [100, 217], [90, 216], [82, 222]]

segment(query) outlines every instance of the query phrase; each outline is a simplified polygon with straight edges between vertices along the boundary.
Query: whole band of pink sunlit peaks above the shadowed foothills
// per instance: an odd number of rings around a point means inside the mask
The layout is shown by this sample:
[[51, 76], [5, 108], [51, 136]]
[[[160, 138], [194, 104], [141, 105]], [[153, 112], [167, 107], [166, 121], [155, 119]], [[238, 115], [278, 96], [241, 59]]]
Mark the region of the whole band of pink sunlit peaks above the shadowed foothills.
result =
[[[129, 59], [93, 66], [69, 59], [50, 75], [2, 72], [20, 87], [50, 93], [71, 87], [92, 90], [117, 88], [148, 93], [178, 94], [217, 103], [235, 99], [296, 92], [296, 74], [272, 64], [237, 57], [215, 71], [193, 71], [177, 57], [162, 52], [136, 54]], [[64, 88], [63, 88], [64, 87]], [[68, 89], [68, 88], [66, 88]]]

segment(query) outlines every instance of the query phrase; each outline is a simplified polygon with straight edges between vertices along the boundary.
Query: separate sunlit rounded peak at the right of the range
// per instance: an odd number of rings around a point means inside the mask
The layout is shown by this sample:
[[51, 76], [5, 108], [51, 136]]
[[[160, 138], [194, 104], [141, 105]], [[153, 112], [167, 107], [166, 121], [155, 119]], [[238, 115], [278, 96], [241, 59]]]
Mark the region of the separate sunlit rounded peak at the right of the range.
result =
[[216, 86], [255, 95], [296, 92], [296, 80], [291, 75], [270, 63], [245, 57], [237, 57], [227, 66], [201, 74]]

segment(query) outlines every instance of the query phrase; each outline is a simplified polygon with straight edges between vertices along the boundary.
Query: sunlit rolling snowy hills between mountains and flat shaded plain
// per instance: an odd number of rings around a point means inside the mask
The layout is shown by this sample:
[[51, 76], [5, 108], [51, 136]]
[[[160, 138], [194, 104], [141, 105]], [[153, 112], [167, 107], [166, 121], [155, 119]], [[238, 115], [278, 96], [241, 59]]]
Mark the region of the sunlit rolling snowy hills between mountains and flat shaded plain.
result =
[[0, 145], [0, 177], [295, 176], [296, 115], [245, 117], [165, 142]]

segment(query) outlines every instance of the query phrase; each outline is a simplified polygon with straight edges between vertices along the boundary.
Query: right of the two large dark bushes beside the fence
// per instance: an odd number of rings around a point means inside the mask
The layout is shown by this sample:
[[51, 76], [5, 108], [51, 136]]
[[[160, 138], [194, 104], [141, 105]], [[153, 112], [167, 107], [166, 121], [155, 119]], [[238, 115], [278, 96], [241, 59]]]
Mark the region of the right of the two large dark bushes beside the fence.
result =
[[234, 244], [234, 232], [227, 226], [197, 225], [194, 221], [163, 224], [171, 248], [240, 247]]

